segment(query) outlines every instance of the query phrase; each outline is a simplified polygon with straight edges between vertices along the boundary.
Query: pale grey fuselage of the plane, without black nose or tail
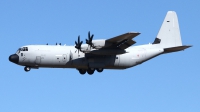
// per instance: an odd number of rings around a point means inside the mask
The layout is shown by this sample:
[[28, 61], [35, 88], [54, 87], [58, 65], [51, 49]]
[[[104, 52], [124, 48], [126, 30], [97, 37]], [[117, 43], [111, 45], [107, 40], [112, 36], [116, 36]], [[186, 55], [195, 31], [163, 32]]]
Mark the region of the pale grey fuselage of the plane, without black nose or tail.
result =
[[127, 48], [121, 55], [94, 55], [78, 52], [74, 46], [27, 45], [27, 51], [17, 51], [22, 66], [31, 68], [104, 68], [126, 69], [163, 53], [162, 48], [153, 44]]

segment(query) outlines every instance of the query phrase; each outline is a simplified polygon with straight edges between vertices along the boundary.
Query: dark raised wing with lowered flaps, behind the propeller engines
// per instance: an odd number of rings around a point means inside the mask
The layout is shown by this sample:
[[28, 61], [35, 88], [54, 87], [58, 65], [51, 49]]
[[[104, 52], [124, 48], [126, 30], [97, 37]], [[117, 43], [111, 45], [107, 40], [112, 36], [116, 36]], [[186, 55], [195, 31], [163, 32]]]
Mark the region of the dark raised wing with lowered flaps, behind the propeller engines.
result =
[[132, 39], [138, 36], [139, 34], [140, 34], [139, 32], [128, 32], [128, 33], [107, 39], [106, 43], [109, 43], [110, 46], [105, 46], [104, 48], [126, 49], [136, 43]]

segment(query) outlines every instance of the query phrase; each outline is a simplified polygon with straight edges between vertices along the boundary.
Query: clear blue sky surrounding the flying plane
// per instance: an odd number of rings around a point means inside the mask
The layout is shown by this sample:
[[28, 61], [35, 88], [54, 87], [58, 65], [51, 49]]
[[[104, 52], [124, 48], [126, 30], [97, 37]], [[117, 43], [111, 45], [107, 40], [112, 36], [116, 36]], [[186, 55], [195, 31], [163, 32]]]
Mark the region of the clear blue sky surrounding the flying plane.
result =
[[[199, 112], [200, 1], [1, 0], [0, 112]], [[177, 12], [185, 51], [161, 55], [126, 70], [92, 76], [75, 69], [25, 72], [8, 61], [30, 44], [74, 45], [78, 35], [108, 39], [141, 32], [152, 43], [169, 10]]]

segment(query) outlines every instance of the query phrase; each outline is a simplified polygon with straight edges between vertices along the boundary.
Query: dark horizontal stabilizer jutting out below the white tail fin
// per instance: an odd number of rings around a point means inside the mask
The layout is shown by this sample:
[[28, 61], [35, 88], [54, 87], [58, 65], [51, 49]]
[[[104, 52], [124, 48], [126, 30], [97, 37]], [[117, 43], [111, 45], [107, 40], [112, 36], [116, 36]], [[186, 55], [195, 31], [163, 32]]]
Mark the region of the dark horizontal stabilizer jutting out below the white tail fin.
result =
[[184, 46], [177, 46], [177, 47], [165, 48], [164, 49], [164, 53], [182, 51], [182, 50], [187, 49], [189, 47], [192, 47], [192, 46], [186, 46], [186, 45], [184, 45]]

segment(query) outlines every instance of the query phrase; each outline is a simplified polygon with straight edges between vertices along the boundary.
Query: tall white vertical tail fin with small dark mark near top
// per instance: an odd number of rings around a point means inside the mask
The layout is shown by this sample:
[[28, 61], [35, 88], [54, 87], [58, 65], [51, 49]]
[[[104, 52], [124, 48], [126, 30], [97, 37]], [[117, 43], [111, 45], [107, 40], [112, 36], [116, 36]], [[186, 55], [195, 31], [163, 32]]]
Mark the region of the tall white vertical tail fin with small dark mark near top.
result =
[[178, 17], [176, 12], [168, 11], [153, 44], [162, 48], [182, 46]]

